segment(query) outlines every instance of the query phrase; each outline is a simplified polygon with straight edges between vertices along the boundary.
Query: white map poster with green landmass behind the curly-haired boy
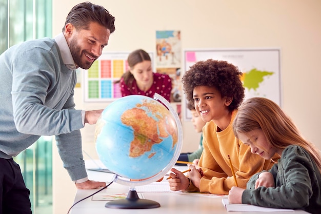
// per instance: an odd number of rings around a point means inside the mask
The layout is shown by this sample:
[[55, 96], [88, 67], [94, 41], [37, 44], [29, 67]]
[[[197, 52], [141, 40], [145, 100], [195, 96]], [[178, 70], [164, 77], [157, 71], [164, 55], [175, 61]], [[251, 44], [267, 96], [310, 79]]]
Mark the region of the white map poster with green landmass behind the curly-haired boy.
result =
[[[227, 61], [243, 72], [241, 81], [245, 87], [244, 99], [260, 96], [281, 106], [279, 49], [184, 50], [185, 70], [197, 61], [207, 59]], [[184, 119], [191, 120], [191, 113], [186, 105]]]

